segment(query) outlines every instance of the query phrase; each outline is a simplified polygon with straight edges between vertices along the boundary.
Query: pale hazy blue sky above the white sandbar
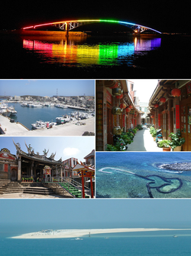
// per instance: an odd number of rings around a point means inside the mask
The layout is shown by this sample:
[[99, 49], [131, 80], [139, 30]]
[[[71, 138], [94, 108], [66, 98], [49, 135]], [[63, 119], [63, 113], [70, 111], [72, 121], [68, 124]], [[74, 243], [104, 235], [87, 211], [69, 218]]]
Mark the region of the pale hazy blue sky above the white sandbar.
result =
[[191, 227], [189, 199], [2, 199], [0, 207], [0, 225], [28, 224], [39, 229]]

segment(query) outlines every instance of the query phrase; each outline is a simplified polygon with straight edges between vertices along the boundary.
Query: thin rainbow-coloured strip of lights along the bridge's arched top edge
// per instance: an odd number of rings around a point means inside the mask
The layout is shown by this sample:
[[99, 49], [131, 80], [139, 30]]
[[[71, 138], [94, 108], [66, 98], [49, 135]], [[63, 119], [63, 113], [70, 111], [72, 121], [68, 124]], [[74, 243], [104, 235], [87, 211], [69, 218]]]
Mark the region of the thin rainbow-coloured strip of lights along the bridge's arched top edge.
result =
[[76, 21], [57, 21], [57, 22], [50, 22], [50, 23], [44, 23], [44, 24], [40, 24], [40, 25], [34, 25], [34, 26], [30, 26], [30, 27], [25, 27], [25, 28], [22, 28], [22, 29], [29, 29], [29, 28], [37, 28], [37, 27], [43, 27], [43, 26], [48, 26], [48, 25], [58, 25], [58, 24], [71, 24], [71, 23], [80, 23], [80, 22], [111, 22], [111, 23], [118, 23], [118, 24], [121, 24], [121, 25], [125, 25], [125, 26], [129, 26], [130, 28], [132, 28], [134, 31], [136, 31], [138, 28], [139, 29], [143, 29], [143, 30], [151, 30], [151, 31], [155, 31], [159, 34], [162, 34], [160, 31], [157, 31], [155, 30], [154, 28], [149, 28], [149, 27], [146, 27], [144, 25], [138, 25], [138, 24], [135, 24], [135, 23], [131, 23], [131, 22], [127, 22], [127, 21], [113, 21], [113, 20], [103, 20], [103, 19], [98, 19], [98, 20], [76, 20]]

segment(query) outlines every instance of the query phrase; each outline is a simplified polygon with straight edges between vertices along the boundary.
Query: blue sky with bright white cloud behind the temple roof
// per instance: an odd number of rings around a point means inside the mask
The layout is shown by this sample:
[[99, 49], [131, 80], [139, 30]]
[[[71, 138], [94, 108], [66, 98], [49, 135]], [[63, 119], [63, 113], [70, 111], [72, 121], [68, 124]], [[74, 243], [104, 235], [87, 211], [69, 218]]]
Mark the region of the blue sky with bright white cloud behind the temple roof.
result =
[[39, 152], [40, 155], [44, 154], [44, 149], [49, 149], [47, 156], [50, 156], [51, 153], [56, 153], [55, 160], [59, 160], [60, 157], [63, 160], [74, 157], [83, 162], [85, 160], [83, 158], [91, 153], [92, 149], [95, 149], [94, 136], [1, 137], [0, 149], [7, 148], [14, 155], [16, 154], [16, 149], [12, 139], [14, 139], [15, 143], [20, 143], [24, 152], [28, 152], [24, 141], [27, 145], [31, 144], [34, 153]]

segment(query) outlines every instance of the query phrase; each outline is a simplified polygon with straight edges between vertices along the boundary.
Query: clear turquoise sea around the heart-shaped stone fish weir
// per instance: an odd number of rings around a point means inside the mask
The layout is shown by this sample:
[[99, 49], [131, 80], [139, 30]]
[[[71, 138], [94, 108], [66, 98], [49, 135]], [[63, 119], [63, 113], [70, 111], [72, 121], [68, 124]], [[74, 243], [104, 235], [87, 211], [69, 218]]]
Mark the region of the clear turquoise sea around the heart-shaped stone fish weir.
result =
[[96, 153], [96, 198], [191, 198], [191, 169], [162, 164], [191, 162], [191, 153]]

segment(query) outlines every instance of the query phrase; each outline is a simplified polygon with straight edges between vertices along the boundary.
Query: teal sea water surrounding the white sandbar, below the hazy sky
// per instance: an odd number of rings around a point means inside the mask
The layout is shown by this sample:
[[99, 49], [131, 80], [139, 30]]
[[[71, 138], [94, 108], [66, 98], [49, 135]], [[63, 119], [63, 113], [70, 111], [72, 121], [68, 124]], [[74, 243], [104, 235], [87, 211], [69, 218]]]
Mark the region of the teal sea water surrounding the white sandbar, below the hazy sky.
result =
[[[30, 228], [26, 227], [23, 231], [31, 232], [34, 231], [34, 228], [30, 230]], [[35, 231], [38, 231], [38, 229]], [[10, 238], [13, 235], [20, 234], [21, 227], [17, 230], [14, 228], [11, 230], [10, 227], [9, 230], [8, 228], [1, 228], [1, 255], [189, 256], [191, 251], [191, 230], [91, 235], [90, 238], [83, 237], [83, 240], [75, 240], [74, 238]], [[176, 238], [174, 238], [173, 235], [176, 235]]]

